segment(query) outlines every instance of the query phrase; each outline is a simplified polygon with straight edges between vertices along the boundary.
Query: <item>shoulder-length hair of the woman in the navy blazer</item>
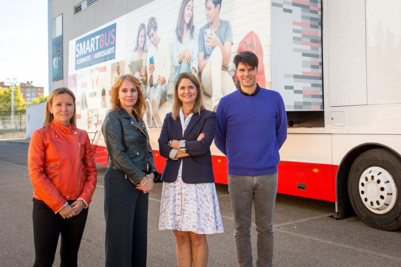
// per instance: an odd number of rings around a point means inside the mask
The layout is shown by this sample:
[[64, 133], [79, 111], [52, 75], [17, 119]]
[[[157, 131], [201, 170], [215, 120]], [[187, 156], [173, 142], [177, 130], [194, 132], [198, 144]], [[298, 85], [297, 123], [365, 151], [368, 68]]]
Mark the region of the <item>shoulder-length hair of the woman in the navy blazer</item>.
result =
[[174, 102], [173, 102], [173, 110], [171, 113], [171, 117], [176, 120], [178, 117], [180, 117], [180, 108], [182, 107], [182, 101], [178, 98], [178, 86], [180, 85], [180, 82], [182, 79], [189, 79], [196, 87], [196, 90], [198, 91], [198, 95], [195, 99], [195, 104], [194, 107], [191, 109], [191, 113], [196, 113], [198, 114], [201, 113], [203, 109], [205, 109], [205, 105], [203, 104], [203, 91], [202, 91], [202, 86], [201, 83], [198, 80], [198, 77], [193, 75], [190, 72], [183, 72], [180, 75], [178, 75], [176, 83], [174, 85]]

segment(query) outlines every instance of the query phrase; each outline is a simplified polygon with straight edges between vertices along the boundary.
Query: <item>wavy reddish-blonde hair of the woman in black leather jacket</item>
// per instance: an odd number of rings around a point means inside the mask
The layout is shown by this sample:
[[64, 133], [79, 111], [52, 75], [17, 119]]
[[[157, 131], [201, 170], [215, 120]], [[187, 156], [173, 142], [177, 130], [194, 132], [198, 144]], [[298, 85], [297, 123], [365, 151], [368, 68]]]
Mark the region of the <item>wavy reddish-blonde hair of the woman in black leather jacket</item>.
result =
[[142, 92], [142, 84], [138, 80], [138, 78], [134, 77], [134, 75], [131, 74], [119, 76], [117, 81], [115, 81], [115, 83], [111, 87], [110, 110], [120, 111], [122, 109], [121, 103], [118, 101], [118, 89], [125, 80], [130, 81], [136, 87], [136, 91], [138, 92], [138, 99], [136, 100], [136, 103], [132, 109], [134, 110], [135, 115], [137, 115], [138, 118], [142, 120], [144, 117], [145, 107], [146, 107], [145, 97]]

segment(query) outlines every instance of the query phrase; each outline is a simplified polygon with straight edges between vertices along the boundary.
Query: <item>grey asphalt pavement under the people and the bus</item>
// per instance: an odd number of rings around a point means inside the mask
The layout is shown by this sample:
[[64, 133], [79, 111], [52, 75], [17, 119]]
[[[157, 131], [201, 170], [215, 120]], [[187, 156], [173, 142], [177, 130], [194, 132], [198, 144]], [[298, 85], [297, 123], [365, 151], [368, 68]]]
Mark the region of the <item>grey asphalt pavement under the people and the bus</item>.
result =
[[[28, 177], [27, 144], [0, 142], [0, 266], [32, 266], [32, 184]], [[79, 250], [79, 266], [104, 265], [103, 176], [98, 182]], [[225, 232], [208, 235], [208, 266], [238, 266], [233, 241], [233, 213], [227, 185], [217, 184]], [[150, 192], [148, 266], [177, 266], [172, 231], [159, 231], [162, 183]], [[401, 266], [401, 231], [368, 227], [358, 217], [336, 220], [334, 203], [277, 194], [273, 227], [274, 266]], [[254, 220], [253, 220], [254, 222]], [[251, 227], [256, 266], [256, 227]], [[59, 250], [53, 266], [59, 266]]]

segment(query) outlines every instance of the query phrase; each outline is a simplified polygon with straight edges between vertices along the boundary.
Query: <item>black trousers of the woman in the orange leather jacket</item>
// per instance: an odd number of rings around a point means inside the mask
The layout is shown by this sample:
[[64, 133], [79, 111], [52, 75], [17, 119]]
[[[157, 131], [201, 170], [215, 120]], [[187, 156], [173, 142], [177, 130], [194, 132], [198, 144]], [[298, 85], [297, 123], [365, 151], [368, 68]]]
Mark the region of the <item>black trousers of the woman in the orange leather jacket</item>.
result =
[[[68, 201], [69, 204], [72, 202], [74, 200]], [[63, 219], [59, 213], [55, 214], [45, 202], [33, 199], [34, 267], [51, 267], [53, 265], [60, 233], [60, 266], [77, 266], [78, 250], [85, 229], [88, 209], [84, 208], [77, 216]]]

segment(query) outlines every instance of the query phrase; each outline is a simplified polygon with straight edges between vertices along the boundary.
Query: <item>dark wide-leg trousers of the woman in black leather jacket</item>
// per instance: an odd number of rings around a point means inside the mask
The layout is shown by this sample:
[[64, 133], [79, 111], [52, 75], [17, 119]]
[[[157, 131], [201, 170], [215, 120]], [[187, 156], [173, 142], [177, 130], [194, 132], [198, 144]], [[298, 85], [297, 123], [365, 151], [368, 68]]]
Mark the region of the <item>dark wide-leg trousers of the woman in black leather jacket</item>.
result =
[[106, 267], [145, 267], [148, 198], [125, 174], [107, 169], [104, 176]]

